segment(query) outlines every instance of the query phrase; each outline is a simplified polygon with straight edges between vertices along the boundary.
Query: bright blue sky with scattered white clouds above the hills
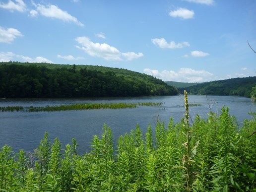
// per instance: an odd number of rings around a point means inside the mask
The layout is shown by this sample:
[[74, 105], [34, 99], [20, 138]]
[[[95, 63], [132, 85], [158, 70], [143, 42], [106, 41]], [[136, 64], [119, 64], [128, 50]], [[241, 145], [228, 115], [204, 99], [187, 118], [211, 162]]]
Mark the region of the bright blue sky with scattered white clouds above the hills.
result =
[[0, 0], [0, 62], [102, 65], [164, 81], [256, 76], [256, 0]]

